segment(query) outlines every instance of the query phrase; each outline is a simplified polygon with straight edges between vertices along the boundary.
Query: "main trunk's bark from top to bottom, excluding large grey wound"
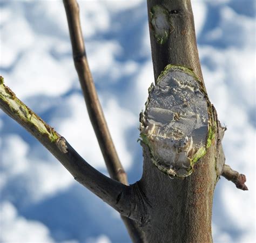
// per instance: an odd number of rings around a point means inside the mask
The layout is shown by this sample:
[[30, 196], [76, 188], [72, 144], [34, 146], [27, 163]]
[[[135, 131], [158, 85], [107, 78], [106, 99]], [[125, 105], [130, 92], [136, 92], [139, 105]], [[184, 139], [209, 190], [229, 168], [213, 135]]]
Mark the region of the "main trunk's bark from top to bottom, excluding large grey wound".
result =
[[[208, 120], [212, 125], [217, 124], [201, 74], [190, 0], [148, 0], [147, 5], [156, 86], [160, 73], [169, 64], [193, 70], [206, 97]], [[209, 129], [202, 136], [207, 139], [208, 133]], [[216, 139], [212, 136], [206, 154], [194, 164], [192, 174], [181, 178], [170, 178], [160, 171], [154, 165], [156, 158], [150, 146], [142, 139], [143, 176], [136, 186], [146, 207], [146, 215], [141, 221], [145, 242], [212, 242], [212, 201], [219, 176], [215, 161], [219, 139], [217, 126], [214, 133]]]

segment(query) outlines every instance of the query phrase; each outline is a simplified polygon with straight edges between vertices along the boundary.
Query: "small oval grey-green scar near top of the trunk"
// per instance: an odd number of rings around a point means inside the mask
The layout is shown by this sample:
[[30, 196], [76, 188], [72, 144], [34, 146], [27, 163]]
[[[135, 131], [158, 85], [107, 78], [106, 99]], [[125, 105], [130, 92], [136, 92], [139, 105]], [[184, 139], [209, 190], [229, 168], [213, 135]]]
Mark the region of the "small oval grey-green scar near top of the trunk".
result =
[[157, 42], [164, 44], [174, 29], [170, 23], [167, 9], [161, 5], [153, 6], [150, 11], [150, 23]]

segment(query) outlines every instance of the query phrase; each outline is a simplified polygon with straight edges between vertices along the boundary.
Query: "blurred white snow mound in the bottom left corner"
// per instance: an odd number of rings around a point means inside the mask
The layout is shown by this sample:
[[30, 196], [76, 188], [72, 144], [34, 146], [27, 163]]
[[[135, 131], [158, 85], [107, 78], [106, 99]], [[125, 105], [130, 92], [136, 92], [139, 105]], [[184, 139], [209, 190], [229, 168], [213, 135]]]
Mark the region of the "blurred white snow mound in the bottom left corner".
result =
[[16, 208], [6, 201], [0, 205], [0, 216], [1, 242], [54, 242], [45, 225], [19, 216]]

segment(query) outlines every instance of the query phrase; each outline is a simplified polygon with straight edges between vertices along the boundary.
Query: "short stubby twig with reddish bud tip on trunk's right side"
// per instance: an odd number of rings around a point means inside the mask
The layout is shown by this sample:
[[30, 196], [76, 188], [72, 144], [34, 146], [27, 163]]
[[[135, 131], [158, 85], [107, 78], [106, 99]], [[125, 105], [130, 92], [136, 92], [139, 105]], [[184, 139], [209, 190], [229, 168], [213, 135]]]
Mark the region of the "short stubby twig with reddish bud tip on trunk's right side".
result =
[[232, 170], [232, 168], [229, 165], [223, 166], [223, 172], [221, 176], [225, 177], [227, 180], [231, 180], [232, 183], [234, 183], [238, 189], [241, 189], [243, 191], [248, 190], [248, 187], [245, 185], [245, 182], [246, 182], [245, 175]]

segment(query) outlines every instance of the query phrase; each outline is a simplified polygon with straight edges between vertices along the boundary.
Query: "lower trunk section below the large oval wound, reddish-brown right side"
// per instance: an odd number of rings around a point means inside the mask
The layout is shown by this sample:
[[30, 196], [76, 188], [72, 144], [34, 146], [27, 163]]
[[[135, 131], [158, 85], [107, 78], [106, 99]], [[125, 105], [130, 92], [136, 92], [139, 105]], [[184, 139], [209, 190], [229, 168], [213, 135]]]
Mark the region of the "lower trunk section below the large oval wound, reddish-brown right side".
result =
[[194, 166], [191, 176], [170, 179], [152, 163], [144, 147], [140, 190], [149, 201], [143, 226], [145, 242], [212, 242], [211, 218], [217, 178], [213, 146]]

